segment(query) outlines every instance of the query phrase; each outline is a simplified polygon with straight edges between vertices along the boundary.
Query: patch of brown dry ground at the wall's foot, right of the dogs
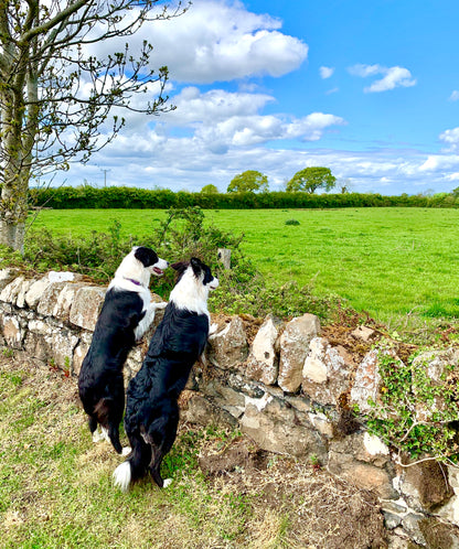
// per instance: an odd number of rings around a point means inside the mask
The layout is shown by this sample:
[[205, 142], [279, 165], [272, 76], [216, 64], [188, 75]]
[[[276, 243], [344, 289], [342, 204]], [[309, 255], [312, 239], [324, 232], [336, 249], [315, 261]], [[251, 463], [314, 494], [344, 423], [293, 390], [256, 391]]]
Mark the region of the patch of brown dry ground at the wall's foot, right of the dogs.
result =
[[[269, 539], [270, 524], [284, 516], [292, 548], [359, 549], [387, 547], [377, 500], [340, 481], [319, 465], [259, 450], [239, 438], [220, 450], [217, 441], [201, 450], [200, 467], [217, 488], [249, 495], [257, 506], [259, 539]], [[260, 510], [263, 509], [263, 510]], [[295, 535], [292, 535], [295, 532]], [[270, 547], [270, 546], [269, 546]]]

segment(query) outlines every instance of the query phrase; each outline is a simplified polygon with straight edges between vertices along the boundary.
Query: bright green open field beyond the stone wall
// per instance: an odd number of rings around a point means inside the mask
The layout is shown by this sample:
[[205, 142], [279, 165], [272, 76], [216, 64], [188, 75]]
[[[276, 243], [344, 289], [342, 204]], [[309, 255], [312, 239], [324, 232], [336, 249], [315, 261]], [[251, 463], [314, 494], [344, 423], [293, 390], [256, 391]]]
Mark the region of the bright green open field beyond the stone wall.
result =
[[[459, 315], [458, 209], [222, 209], [205, 215], [222, 229], [244, 233], [245, 255], [279, 283], [312, 281], [316, 293], [338, 294], [382, 321], [406, 313]], [[163, 216], [166, 211], [151, 209], [44, 211], [33, 227], [77, 236], [107, 230], [117, 219], [122, 234], [141, 236]], [[286, 225], [289, 219], [299, 225]]]

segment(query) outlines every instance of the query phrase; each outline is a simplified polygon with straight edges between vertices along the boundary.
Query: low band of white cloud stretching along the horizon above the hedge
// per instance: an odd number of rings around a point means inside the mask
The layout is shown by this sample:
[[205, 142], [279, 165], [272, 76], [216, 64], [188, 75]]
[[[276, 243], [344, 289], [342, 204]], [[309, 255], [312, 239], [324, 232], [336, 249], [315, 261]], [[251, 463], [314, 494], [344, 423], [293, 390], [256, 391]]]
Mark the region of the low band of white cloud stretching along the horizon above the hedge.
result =
[[[268, 119], [266, 131], [273, 129]], [[275, 126], [275, 129], [277, 127]], [[252, 126], [252, 130], [261, 131]], [[278, 128], [277, 128], [278, 131]], [[231, 131], [234, 136], [235, 132]], [[451, 191], [457, 186], [459, 155], [437, 154], [426, 159], [413, 150], [345, 151], [311, 149], [298, 146], [289, 150], [281, 141], [268, 147], [263, 142], [250, 147], [231, 144], [212, 150], [210, 136], [171, 137], [167, 139], [150, 130], [135, 138], [120, 136], [109, 148], [98, 153], [92, 165], [72, 166], [61, 174], [73, 184], [87, 179], [103, 184], [102, 168], [109, 169], [107, 184], [153, 187], [173, 191], [200, 191], [212, 182], [225, 191], [236, 173], [259, 170], [268, 175], [271, 190], [279, 190], [286, 179], [306, 166], [329, 166], [339, 180], [350, 180], [354, 192], [383, 192], [384, 194], [413, 194], [427, 189]], [[215, 148], [217, 143], [214, 143]], [[100, 168], [99, 168], [100, 166]], [[60, 184], [56, 179], [54, 184]]]

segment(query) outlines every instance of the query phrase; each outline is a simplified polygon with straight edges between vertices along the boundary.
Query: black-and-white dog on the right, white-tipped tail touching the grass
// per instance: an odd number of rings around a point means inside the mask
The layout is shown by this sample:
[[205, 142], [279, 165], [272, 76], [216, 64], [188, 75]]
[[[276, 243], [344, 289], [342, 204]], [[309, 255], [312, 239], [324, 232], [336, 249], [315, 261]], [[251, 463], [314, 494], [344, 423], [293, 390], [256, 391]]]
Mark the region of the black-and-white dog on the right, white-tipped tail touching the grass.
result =
[[172, 482], [161, 477], [161, 462], [177, 437], [179, 395], [207, 342], [207, 295], [218, 280], [196, 258], [171, 267], [178, 281], [142, 367], [128, 386], [125, 430], [132, 453], [114, 472], [115, 485], [124, 492], [148, 472], [159, 487]]

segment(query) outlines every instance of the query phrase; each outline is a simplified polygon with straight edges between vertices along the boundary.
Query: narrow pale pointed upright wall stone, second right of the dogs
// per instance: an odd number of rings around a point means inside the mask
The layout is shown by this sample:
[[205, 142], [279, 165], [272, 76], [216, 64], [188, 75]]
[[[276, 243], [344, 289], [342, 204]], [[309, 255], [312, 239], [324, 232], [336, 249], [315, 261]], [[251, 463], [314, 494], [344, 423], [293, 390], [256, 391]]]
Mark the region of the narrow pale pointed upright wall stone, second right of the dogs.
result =
[[267, 317], [258, 330], [247, 358], [246, 376], [274, 385], [277, 381], [278, 360], [276, 356], [276, 341], [279, 330], [273, 317]]

